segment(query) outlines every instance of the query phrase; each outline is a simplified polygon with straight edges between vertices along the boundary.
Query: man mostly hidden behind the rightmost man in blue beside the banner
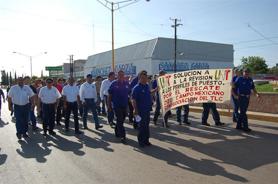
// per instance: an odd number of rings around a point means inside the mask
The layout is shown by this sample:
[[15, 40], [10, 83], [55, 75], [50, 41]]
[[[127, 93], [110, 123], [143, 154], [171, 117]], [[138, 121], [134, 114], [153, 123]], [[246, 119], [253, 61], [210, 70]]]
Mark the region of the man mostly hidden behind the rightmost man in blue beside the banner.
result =
[[[241, 69], [236, 69], [234, 71], [235, 76], [233, 77], [233, 82], [236, 82], [237, 78], [241, 76]], [[239, 102], [238, 102], [238, 88], [231, 88], [231, 101], [233, 102], [233, 122], [237, 122], [239, 118]]]

